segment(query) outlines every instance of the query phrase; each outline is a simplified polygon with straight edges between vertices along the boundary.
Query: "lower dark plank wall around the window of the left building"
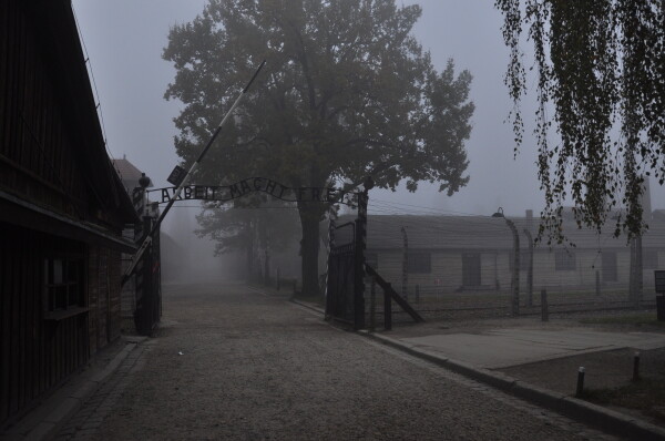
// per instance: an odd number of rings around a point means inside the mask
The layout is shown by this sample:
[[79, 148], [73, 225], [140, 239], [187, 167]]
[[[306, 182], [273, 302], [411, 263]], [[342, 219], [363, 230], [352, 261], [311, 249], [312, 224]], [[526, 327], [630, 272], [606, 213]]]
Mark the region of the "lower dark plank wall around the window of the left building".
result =
[[[120, 337], [120, 252], [0, 223], [0, 427], [80, 370]], [[85, 259], [85, 305], [74, 317], [45, 317], [44, 258]]]

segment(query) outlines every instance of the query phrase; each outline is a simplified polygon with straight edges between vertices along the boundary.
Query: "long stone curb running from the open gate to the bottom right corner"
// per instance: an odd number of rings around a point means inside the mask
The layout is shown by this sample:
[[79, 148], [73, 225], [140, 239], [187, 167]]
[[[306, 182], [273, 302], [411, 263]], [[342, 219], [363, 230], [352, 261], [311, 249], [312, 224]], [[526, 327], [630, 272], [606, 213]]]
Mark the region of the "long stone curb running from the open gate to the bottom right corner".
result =
[[430, 361], [453, 372], [463, 375], [473, 380], [511, 393], [542, 408], [564, 414], [573, 420], [593, 425], [596, 429], [611, 434], [618, 434], [628, 439], [644, 441], [665, 440], [665, 429], [637, 418], [628, 417], [623, 413], [579, 400], [576, 398], [566, 397], [562, 393], [541, 389], [500, 372], [477, 368], [469, 363], [450, 358], [443, 358], [432, 351], [417, 348], [413, 345], [399, 341], [390, 337], [372, 334], [367, 330], [360, 330], [358, 334], [379, 341], [386, 346], [399, 349], [413, 357]]

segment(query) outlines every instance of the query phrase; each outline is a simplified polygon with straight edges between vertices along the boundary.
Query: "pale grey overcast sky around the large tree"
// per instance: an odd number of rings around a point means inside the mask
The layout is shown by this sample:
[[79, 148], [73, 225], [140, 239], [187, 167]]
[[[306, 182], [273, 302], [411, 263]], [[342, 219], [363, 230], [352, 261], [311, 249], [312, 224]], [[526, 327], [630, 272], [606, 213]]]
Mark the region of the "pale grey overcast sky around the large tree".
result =
[[[370, 212], [374, 206], [403, 212], [411, 208], [421, 214], [420, 207], [430, 207], [490, 215], [502, 206], [510, 215], [523, 215], [529, 208], [538, 213], [543, 203], [533, 139], [526, 133], [522, 151], [513, 160], [513, 134], [510, 124], [504, 123], [512, 107], [503, 84], [508, 50], [493, 1], [416, 2], [422, 6], [423, 13], [415, 32], [431, 52], [437, 69], [443, 69], [447, 60], [453, 58], [459, 70], [468, 69], [473, 75], [471, 99], [475, 113], [467, 143], [471, 181], [452, 197], [427, 184], [416, 195], [372, 191]], [[126, 154], [157, 187], [166, 185], [166, 176], [178, 162], [172, 122], [178, 103], [163, 99], [175, 71], [162, 60], [162, 49], [168, 28], [191, 21], [204, 4], [204, 0], [73, 0], [96, 80], [111, 154]], [[533, 109], [531, 98], [523, 104], [528, 122]], [[654, 198], [654, 207], [662, 206], [661, 198]], [[385, 201], [391, 202], [392, 207]]]

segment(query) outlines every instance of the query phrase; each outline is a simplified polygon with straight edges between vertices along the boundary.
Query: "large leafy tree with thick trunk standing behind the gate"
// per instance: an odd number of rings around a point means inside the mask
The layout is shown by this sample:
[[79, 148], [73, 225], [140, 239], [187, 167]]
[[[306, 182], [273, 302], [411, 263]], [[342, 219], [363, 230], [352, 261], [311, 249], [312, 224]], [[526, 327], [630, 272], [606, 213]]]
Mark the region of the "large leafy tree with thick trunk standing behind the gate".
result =
[[[452, 60], [438, 73], [411, 34], [418, 6], [395, 0], [211, 0], [171, 29], [164, 59], [177, 70], [165, 96], [185, 163], [209, 137], [235, 91], [262, 60], [266, 70], [200, 180], [268, 175], [286, 185], [328, 186], [372, 175], [379, 187], [437, 181], [457, 192], [464, 176], [471, 75]], [[298, 203], [303, 289], [318, 293], [318, 224], [329, 209]]]

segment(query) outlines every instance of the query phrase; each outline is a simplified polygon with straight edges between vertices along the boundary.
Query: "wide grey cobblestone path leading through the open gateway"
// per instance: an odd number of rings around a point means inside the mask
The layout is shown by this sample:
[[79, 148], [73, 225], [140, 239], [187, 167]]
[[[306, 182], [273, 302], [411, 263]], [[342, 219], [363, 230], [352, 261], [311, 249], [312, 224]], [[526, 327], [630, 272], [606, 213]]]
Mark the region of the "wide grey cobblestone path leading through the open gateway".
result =
[[61, 440], [613, 440], [242, 285], [165, 289]]

